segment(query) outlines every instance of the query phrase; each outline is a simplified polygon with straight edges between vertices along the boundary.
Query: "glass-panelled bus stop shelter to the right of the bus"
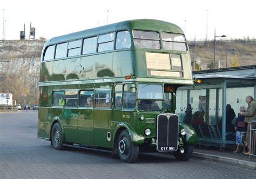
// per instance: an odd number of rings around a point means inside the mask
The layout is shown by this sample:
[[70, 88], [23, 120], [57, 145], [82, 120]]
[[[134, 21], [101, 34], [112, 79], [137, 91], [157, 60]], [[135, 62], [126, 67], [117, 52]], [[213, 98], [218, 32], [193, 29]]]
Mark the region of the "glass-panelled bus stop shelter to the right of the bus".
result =
[[[233, 147], [234, 123], [239, 109], [247, 108], [246, 96], [256, 96], [255, 67], [196, 71], [193, 76], [202, 82], [177, 90], [176, 113], [181, 122], [194, 127], [199, 145]], [[231, 105], [235, 116], [227, 110], [227, 104]], [[230, 120], [232, 123], [227, 123]]]

